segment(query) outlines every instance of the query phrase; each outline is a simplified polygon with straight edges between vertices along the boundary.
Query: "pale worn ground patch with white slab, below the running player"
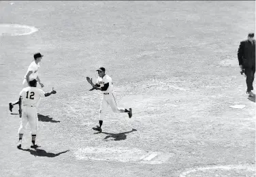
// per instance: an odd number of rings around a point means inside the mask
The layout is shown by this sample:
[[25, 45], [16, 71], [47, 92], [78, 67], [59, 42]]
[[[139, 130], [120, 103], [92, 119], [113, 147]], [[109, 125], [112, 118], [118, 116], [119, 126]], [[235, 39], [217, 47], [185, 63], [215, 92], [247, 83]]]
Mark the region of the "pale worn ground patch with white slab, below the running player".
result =
[[174, 153], [148, 152], [138, 148], [85, 147], [76, 150], [74, 155], [79, 160], [161, 164], [166, 163]]

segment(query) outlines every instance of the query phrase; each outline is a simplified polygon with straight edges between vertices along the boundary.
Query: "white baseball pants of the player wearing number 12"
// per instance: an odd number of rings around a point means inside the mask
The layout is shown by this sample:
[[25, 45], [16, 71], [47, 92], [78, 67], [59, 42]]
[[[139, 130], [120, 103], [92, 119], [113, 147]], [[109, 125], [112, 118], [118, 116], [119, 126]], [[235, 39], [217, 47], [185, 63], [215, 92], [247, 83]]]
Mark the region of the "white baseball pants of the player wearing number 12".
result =
[[27, 123], [29, 123], [29, 127], [31, 129], [31, 134], [37, 134], [37, 108], [31, 106], [23, 106], [22, 108], [22, 117], [20, 128], [18, 129], [18, 133], [24, 133], [27, 129]]

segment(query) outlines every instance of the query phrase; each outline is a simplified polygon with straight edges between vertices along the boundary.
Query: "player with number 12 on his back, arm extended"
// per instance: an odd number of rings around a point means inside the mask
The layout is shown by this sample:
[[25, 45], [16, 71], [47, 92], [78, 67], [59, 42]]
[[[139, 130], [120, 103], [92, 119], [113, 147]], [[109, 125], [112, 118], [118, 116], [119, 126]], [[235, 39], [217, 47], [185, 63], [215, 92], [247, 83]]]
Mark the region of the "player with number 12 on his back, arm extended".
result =
[[44, 93], [42, 89], [36, 88], [37, 80], [29, 81], [29, 86], [26, 88], [22, 88], [20, 91], [20, 97], [22, 97], [22, 118], [20, 123], [20, 128], [18, 129], [18, 145], [17, 148], [21, 148], [22, 137], [25, 129], [27, 129], [27, 123], [29, 123], [29, 127], [31, 129], [32, 136], [32, 145], [31, 148], [39, 147], [35, 144], [35, 138], [37, 135], [37, 107], [39, 106], [40, 97], [48, 97], [52, 94], [56, 94], [57, 92], [53, 90], [49, 93]]

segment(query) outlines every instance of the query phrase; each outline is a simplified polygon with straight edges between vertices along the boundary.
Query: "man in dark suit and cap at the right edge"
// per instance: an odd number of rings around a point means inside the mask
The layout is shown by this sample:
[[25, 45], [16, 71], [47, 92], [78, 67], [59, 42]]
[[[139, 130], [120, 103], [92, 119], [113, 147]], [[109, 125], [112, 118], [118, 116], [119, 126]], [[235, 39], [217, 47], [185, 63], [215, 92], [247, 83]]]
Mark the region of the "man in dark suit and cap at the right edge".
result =
[[255, 74], [255, 39], [254, 33], [249, 33], [248, 38], [240, 42], [238, 48], [238, 62], [241, 74], [246, 75], [246, 85], [249, 97], [255, 96], [253, 91], [253, 80]]

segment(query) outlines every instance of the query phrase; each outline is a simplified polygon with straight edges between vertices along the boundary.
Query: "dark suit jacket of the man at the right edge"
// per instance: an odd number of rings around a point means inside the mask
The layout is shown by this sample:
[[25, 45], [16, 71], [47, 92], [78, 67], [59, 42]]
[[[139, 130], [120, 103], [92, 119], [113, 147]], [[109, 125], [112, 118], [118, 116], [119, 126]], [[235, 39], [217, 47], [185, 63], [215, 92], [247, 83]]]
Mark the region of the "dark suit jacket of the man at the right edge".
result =
[[255, 40], [253, 40], [253, 43], [249, 40], [240, 42], [238, 62], [243, 67], [255, 67]]

